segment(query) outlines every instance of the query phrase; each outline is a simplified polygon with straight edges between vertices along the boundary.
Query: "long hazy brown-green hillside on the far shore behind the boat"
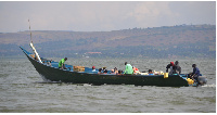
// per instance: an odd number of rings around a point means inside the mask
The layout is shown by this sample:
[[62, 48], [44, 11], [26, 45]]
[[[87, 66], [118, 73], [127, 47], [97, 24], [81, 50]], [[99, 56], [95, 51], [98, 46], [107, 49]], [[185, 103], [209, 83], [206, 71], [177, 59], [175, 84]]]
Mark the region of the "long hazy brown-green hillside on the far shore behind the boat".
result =
[[[216, 58], [215, 25], [31, 33], [39, 54], [49, 58]], [[18, 47], [30, 50], [29, 42], [29, 31], [0, 34], [0, 56], [20, 55]]]

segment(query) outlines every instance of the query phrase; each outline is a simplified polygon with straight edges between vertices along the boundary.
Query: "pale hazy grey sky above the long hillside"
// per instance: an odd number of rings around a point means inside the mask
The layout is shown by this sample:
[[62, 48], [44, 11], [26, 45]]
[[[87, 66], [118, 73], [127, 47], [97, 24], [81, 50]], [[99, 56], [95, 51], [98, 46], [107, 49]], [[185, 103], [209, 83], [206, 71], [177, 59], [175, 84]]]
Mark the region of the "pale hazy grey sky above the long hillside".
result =
[[104, 31], [181, 24], [216, 24], [215, 1], [0, 1], [0, 33]]

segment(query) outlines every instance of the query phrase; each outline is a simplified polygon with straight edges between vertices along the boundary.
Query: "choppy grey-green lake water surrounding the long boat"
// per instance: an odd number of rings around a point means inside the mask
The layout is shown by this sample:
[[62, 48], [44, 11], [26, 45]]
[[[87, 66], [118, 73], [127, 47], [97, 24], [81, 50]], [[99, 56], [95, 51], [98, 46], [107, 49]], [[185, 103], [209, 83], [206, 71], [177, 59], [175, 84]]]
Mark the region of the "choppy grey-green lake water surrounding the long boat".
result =
[[[61, 59], [52, 59], [60, 61]], [[170, 60], [72, 59], [66, 64], [124, 69], [125, 62], [142, 71], [165, 72]], [[173, 60], [174, 62], [176, 60]], [[216, 60], [178, 60], [182, 73], [197, 64], [207, 77], [203, 87], [136, 87], [46, 84], [27, 58], [0, 59], [2, 113], [216, 113]]]

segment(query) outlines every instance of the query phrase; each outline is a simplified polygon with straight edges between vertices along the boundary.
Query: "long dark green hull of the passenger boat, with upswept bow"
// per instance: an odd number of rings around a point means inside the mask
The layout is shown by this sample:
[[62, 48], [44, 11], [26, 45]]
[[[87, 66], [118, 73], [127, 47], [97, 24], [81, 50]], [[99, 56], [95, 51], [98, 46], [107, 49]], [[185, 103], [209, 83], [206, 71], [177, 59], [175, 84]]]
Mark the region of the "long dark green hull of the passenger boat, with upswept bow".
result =
[[[22, 48], [21, 48], [22, 49]], [[36, 71], [43, 78], [51, 81], [73, 82], [73, 84], [92, 84], [92, 85], [135, 85], [135, 86], [161, 86], [161, 87], [188, 87], [188, 81], [179, 75], [169, 75], [164, 78], [163, 75], [99, 75], [93, 73], [79, 73], [73, 71], [63, 71], [56, 67], [50, 67], [41, 64], [29, 56], [29, 53], [22, 49], [28, 60], [35, 66]]]

